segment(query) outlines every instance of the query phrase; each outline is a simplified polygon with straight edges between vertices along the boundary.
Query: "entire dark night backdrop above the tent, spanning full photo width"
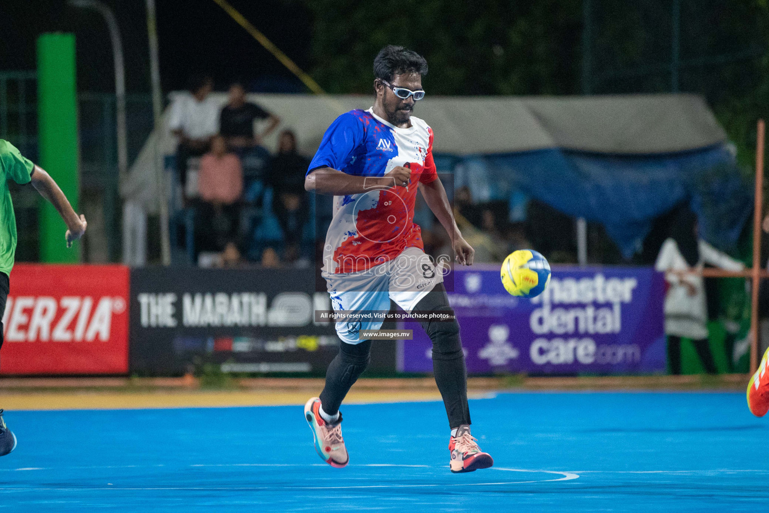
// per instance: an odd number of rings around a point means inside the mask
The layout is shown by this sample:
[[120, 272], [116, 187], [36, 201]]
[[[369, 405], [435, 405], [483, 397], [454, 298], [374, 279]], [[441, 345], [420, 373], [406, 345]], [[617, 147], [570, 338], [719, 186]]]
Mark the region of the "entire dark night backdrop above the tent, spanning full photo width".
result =
[[[122, 29], [128, 92], [149, 92], [145, 0], [104, 3]], [[212, 0], [156, 3], [165, 92], [185, 88], [191, 73], [211, 75], [220, 91], [234, 79], [251, 91], [308, 91]], [[394, 43], [428, 59], [424, 87], [431, 95], [701, 94], [746, 168], [754, 120], [769, 117], [765, 0], [679, 0], [677, 87], [671, 0], [230, 3], [330, 93], [369, 94], [371, 61]], [[588, 46], [585, 5], [591, 6]], [[65, 0], [0, 2], [0, 70], [35, 69], [35, 40], [52, 31], [76, 35], [81, 92], [114, 91], [102, 16]], [[591, 55], [587, 68], [584, 48]]]

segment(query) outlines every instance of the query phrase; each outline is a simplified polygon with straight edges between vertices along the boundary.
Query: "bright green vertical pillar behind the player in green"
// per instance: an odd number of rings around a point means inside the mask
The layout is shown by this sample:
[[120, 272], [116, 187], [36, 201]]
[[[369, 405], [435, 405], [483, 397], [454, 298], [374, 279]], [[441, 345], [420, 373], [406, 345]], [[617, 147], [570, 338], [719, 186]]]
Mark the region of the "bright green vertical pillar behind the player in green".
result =
[[[62, 188], [78, 211], [78, 107], [75, 88], [75, 35], [38, 38], [38, 143], [40, 167]], [[75, 263], [78, 243], [67, 249], [66, 225], [49, 202], [40, 208], [40, 261]]]

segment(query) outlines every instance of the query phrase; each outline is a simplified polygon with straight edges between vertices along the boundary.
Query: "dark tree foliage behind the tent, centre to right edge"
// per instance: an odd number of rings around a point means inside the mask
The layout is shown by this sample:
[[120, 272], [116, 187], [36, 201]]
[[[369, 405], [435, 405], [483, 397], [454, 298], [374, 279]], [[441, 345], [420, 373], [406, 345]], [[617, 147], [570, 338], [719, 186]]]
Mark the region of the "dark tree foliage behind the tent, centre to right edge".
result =
[[[307, 0], [312, 74], [333, 93], [371, 92], [387, 44], [428, 59], [429, 94], [574, 95], [583, 88], [586, 0]], [[589, 0], [593, 94], [673, 90], [673, 3]], [[766, 0], [681, 0], [678, 90], [704, 95], [744, 164], [769, 116]]]

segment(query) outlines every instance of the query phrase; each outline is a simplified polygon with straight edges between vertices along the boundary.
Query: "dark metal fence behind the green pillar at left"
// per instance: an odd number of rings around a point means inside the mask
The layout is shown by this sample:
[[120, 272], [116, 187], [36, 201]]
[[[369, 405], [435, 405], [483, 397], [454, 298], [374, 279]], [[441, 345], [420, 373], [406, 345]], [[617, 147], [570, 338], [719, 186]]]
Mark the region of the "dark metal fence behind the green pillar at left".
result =
[[[33, 71], [0, 72], [0, 138], [11, 142], [33, 162], [38, 159], [37, 79]], [[128, 162], [141, 150], [152, 130], [149, 94], [126, 96]], [[121, 202], [115, 135], [115, 95], [78, 94], [80, 136], [80, 205], [88, 218], [83, 259], [121, 260]], [[55, 177], [54, 177], [55, 178]], [[17, 261], [38, 261], [39, 195], [31, 187], [10, 184], [18, 226]]]

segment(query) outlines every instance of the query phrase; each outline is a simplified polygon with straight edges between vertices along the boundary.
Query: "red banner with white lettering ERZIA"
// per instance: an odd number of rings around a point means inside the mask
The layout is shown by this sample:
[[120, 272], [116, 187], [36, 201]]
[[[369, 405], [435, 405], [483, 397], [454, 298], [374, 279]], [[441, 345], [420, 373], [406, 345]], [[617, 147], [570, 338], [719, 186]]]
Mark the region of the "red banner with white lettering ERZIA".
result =
[[128, 372], [128, 268], [17, 264], [3, 315], [4, 375]]

